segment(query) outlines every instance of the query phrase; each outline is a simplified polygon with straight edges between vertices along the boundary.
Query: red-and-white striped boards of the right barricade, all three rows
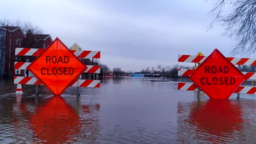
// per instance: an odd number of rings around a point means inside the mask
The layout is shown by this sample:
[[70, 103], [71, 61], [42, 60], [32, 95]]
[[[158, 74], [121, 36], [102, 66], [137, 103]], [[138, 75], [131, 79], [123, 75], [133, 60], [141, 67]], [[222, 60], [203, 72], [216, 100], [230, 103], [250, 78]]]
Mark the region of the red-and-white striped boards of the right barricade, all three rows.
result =
[[[178, 55], [178, 62], [202, 63], [207, 56], [194, 56], [194, 55]], [[256, 58], [235, 58], [227, 57], [227, 59], [234, 65], [256, 65]], [[178, 76], [189, 77], [193, 74], [195, 69], [178, 69]], [[247, 80], [256, 80], [256, 73], [242, 72]], [[178, 90], [182, 91], [201, 91], [199, 87], [193, 82], [179, 82]], [[239, 86], [234, 93], [255, 94], [256, 87], [252, 86]]]

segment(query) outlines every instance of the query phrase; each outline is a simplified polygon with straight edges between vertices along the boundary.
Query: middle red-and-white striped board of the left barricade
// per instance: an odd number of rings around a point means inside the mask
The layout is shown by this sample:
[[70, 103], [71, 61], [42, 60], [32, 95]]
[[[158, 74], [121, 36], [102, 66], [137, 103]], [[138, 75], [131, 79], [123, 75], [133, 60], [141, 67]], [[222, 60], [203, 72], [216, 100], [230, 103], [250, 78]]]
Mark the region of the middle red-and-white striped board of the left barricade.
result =
[[[30, 62], [15, 62], [14, 69], [27, 69], [27, 66], [30, 65]], [[101, 73], [100, 65], [86, 65], [88, 68], [84, 73]]]

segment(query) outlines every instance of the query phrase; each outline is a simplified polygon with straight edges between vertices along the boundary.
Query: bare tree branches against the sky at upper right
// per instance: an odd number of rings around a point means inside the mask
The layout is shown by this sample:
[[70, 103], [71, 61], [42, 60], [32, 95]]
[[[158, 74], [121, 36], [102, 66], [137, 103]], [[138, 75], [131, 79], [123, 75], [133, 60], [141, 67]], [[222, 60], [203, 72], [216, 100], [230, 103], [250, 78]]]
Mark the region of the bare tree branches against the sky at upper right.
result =
[[225, 34], [237, 41], [232, 54], [251, 55], [256, 51], [256, 1], [207, 0], [213, 4], [210, 11], [214, 23], [225, 28]]

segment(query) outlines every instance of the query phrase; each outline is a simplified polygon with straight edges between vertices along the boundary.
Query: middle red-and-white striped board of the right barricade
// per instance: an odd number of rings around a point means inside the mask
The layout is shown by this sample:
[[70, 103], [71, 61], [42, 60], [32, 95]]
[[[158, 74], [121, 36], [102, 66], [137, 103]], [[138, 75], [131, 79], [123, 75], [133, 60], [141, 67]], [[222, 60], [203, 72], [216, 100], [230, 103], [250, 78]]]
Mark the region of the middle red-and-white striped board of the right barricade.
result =
[[[190, 76], [195, 72], [195, 69], [178, 69], [178, 76]], [[256, 80], [256, 73], [254, 72], [242, 72], [247, 80]]]

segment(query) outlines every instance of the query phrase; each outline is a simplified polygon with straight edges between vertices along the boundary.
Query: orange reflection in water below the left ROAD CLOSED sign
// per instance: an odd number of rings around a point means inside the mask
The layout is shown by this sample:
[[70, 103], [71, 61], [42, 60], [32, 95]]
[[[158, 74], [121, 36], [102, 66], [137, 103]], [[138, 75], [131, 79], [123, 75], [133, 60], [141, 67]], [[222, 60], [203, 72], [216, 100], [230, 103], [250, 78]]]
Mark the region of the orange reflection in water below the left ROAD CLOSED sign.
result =
[[69, 139], [68, 135], [79, 133], [79, 116], [62, 97], [52, 97], [39, 106], [30, 123], [38, 139], [50, 143], [63, 143]]

